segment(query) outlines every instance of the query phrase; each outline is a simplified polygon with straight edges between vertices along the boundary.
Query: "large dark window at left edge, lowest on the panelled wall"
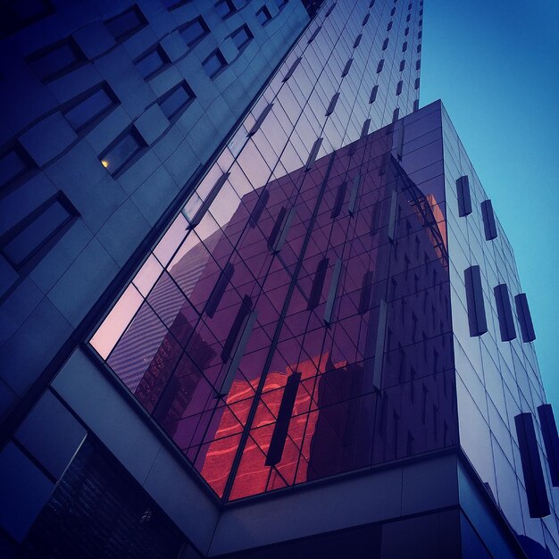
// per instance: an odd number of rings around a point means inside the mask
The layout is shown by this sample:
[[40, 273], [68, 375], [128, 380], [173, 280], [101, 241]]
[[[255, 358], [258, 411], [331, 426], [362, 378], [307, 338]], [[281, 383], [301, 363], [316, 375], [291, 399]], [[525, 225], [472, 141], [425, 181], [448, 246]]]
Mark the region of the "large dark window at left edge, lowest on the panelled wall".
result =
[[70, 200], [59, 193], [3, 236], [1, 252], [20, 270], [32, 258], [45, 255], [78, 215]]

